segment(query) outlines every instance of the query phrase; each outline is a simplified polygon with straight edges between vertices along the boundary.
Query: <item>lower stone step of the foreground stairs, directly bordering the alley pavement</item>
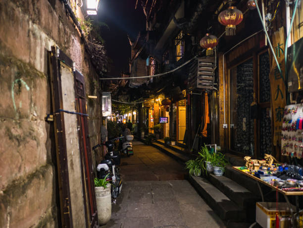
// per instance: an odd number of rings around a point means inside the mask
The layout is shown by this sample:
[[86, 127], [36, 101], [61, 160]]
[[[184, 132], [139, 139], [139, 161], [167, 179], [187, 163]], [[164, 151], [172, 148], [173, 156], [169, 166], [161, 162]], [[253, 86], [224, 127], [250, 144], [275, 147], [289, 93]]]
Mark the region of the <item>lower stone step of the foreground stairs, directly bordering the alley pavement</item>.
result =
[[232, 200], [200, 176], [190, 176], [190, 182], [212, 210], [224, 221], [244, 222], [246, 213]]

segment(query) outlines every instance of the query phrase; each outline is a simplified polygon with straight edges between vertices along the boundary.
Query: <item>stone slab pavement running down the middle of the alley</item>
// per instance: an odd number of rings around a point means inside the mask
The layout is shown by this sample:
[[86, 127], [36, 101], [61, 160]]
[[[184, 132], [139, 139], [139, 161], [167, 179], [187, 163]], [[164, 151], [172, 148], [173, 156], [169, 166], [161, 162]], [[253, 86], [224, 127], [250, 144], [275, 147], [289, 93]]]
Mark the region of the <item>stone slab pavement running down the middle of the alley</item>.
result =
[[134, 142], [121, 158], [122, 192], [102, 228], [224, 228], [190, 183], [184, 166], [152, 146]]

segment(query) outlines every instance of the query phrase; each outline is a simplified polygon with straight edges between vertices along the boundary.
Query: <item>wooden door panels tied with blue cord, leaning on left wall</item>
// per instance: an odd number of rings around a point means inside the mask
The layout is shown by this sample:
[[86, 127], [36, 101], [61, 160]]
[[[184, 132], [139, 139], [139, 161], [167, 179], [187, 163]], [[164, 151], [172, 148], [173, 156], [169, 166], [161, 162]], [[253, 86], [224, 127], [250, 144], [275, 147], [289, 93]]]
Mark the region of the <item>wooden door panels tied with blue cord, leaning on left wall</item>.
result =
[[51, 66], [61, 225], [98, 227], [84, 77], [55, 47], [51, 48]]

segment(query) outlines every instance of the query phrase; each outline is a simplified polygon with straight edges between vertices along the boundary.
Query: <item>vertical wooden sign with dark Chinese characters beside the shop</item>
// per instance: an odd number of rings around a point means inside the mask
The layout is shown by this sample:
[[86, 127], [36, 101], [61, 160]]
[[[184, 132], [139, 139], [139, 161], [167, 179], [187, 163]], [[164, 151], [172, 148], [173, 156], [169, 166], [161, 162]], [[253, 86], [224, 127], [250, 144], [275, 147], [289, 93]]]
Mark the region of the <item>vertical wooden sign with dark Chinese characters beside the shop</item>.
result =
[[277, 63], [271, 55], [271, 69], [269, 73], [270, 80], [270, 92], [271, 92], [271, 107], [273, 111], [273, 126], [274, 136], [273, 145], [277, 146], [277, 143], [281, 142], [281, 131], [283, 123], [283, 113], [286, 105], [286, 90], [285, 90], [285, 36], [284, 28], [281, 27], [272, 36], [272, 47], [275, 51], [278, 59], [282, 75], [278, 69]]

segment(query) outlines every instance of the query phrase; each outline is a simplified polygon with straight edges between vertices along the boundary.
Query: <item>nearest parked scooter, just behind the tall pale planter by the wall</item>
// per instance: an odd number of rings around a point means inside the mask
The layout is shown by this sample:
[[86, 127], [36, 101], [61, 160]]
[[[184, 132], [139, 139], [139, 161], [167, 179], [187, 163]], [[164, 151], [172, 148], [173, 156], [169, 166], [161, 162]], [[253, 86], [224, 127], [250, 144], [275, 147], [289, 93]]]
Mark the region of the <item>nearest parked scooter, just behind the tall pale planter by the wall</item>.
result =
[[103, 179], [109, 173], [106, 180], [110, 181], [111, 183], [111, 197], [113, 199], [113, 203], [116, 202], [116, 198], [119, 196], [122, 189], [122, 179], [118, 172], [118, 168], [116, 167], [120, 165], [120, 154], [119, 151], [113, 151], [114, 145], [112, 143], [112, 141], [116, 139], [107, 141], [104, 144], [97, 144], [93, 147], [93, 150], [102, 145], [107, 147], [108, 153], [104, 156], [105, 160], [102, 160], [97, 166], [97, 177], [99, 179]]

